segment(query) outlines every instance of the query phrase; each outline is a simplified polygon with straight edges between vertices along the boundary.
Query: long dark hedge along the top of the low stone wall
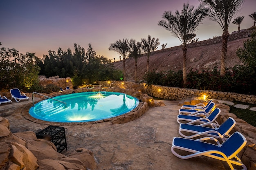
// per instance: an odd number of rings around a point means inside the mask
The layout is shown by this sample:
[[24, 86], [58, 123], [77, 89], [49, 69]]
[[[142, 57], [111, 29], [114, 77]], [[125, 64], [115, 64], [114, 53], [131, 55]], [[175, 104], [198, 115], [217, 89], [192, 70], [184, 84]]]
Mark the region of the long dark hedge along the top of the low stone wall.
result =
[[234, 66], [226, 71], [225, 76], [220, 76], [220, 71], [191, 70], [187, 74], [187, 83], [183, 86], [182, 71], [169, 71], [168, 73], [148, 72], [144, 80], [147, 85], [193, 88], [200, 90], [225, 91], [256, 95], [256, 73], [247, 66]]

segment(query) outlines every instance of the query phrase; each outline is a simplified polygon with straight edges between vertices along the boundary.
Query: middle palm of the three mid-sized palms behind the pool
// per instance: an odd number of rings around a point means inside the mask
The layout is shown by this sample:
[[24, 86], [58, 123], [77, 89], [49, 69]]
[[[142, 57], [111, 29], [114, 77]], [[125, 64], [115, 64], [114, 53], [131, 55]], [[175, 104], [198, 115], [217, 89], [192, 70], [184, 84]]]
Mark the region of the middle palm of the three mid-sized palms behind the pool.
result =
[[135, 60], [135, 73], [134, 79], [137, 82], [137, 60], [141, 55], [141, 42], [135, 42], [134, 39], [130, 40], [130, 55], [129, 57], [134, 57]]

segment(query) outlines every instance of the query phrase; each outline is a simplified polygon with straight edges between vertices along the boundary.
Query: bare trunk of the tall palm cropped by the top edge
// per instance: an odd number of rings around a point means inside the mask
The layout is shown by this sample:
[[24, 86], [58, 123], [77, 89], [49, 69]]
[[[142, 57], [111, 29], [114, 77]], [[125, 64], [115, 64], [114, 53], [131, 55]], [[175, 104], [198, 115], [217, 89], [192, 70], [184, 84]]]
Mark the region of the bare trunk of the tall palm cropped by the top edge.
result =
[[227, 40], [229, 38], [229, 31], [224, 31], [222, 34], [222, 50], [220, 58], [220, 75], [226, 73], [226, 58], [227, 58]]

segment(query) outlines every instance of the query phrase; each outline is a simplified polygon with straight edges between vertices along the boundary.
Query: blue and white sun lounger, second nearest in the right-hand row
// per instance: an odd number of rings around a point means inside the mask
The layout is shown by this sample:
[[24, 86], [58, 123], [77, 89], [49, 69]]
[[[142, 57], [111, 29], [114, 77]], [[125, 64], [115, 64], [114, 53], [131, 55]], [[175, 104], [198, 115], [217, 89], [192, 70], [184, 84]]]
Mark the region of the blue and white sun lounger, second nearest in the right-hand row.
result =
[[[207, 125], [211, 125], [213, 128], [206, 127]], [[200, 125], [180, 124], [179, 133], [182, 137], [188, 139], [199, 137], [201, 135], [206, 135], [214, 138], [220, 138], [222, 139], [222, 141], [225, 141], [225, 138], [229, 137], [229, 132], [234, 128], [235, 125], [236, 121], [233, 118], [229, 117], [219, 127], [217, 127], [213, 123], [204, 123]]]

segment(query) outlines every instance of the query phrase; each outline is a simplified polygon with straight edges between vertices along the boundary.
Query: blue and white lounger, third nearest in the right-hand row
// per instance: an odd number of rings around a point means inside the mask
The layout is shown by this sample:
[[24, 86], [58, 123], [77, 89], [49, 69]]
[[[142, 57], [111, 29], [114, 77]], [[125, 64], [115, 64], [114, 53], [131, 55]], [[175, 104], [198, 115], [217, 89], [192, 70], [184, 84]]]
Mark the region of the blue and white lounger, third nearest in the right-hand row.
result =
[[216, 122], [216, 124], [218, 125], [218, 122], [216, 121], [216, 118], [218, 117], [218, 115], [220, 115], [220, 109], [219, 108], [215, 108], [213, 110], [213, 112], [207, 116], [207, 117], [201, 117], [201, 116], [191, 116], [191, 115], [178, 115], [177, 116], [177, 122], [179, 124], [182, 124], [182, 121], [188, 121], [188, 123], [186, 124], [194, 124], [194, 123], [206, 123], [206, 122]]

